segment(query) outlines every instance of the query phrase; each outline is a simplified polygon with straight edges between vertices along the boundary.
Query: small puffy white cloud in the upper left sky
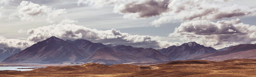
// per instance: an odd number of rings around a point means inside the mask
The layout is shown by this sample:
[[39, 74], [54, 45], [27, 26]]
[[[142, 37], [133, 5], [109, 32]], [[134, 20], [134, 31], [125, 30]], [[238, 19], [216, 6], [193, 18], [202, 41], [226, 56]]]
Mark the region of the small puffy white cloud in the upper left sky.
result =
[[66, 9], [54, 9], [48, 6], [35, 4], [29, 1], [22, 1], [17, 8], [16, 13], [12, 13], [10, 18], [18, 16], [22, 21], [33, 20], [33, 16], [47, 16], [47, 21], [51, 22], [49, 18], [56, 17], [60, 14], [66, 13]]

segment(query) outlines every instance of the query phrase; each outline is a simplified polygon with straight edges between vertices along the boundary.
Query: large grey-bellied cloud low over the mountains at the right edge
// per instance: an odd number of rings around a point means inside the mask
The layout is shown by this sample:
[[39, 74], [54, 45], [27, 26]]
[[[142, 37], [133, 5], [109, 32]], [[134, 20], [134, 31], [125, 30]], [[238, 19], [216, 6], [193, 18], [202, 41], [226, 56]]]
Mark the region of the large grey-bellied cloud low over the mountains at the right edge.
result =
[[239, 19], [212, 22], [208, 20], [188, 21], [175, 28], [169, 37], [180, 37], [183, 42], [196, 41], [214, 48], [256, 41], [256, 26], [242, 23]]

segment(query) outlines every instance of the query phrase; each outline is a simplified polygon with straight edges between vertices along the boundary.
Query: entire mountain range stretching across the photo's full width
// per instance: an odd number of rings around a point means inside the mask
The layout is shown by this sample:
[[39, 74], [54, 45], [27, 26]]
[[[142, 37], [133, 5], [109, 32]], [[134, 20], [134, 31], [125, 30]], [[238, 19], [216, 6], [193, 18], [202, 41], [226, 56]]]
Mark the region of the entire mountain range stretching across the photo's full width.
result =
[[7, 57], [2, 62], [122, 64], [176, 60], [256, 59], [256, 53], [254, 53], [256, 45], [254, 44], [241, 44], [216, 50], [196, 42], [188, 42], [180, 46], [170, 46], [156, 50], [126, 45], [104, 45], [84, 39], [64, 41], [54, 36], [19, 51], [20, 49], [15, 48], [0, 48], [1, 58], [2, 55], [5, 55], [3, 59]]

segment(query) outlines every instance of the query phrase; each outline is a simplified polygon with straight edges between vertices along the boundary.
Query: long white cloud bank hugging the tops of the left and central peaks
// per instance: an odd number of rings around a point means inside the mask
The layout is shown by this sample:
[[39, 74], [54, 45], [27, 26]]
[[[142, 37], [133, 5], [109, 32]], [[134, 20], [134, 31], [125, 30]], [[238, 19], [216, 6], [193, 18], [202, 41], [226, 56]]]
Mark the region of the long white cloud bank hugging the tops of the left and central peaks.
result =
[[96, 30], [89, 29], [83, 26], [71, 24], [73, 20], [64, 20], [60, 24], [53, 24], [48, 26], [39, 27], [36, 29], [29, 29], [27, 32], [30, 35], [28, 41], [38, 42], [44, 39], [56, 36], [60, 39], [86, 39], [93, 42], [101, 42], [104, 44], [122, 44], [132, 45], [134, 47], [152, 47], [161, 48], [169, 47], [170, 45], [177, 44], [168, 41], [160, 41], [161, 37], [129, 35], [122, 33], [119, 30]]

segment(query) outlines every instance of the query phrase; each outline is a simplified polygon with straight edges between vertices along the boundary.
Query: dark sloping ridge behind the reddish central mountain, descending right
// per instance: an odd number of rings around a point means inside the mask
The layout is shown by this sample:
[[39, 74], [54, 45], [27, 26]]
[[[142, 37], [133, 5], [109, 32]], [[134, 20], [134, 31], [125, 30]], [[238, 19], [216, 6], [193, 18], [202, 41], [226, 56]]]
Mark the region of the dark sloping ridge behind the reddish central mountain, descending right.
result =
[[170, 61], [169, 57], [162, 55], [159, 51], [153, 48], [144, 49], [125, 45], [117, 45], [112, 48], [119, 52], [129, 53], [140, 57], [152, 58], [158, 61]]

